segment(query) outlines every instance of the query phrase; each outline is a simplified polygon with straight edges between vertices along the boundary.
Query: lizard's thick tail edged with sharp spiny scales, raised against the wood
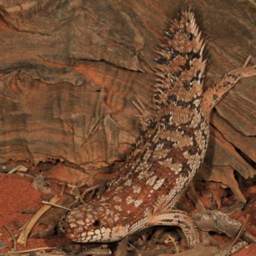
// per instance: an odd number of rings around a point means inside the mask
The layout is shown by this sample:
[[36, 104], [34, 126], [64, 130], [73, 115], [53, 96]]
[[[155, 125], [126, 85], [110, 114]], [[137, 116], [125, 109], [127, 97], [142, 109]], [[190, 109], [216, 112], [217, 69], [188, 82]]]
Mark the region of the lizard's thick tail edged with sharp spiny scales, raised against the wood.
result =
[[[202, 78], [206, 59], [203, 60], [203, 40], [200, 38], [194, 14], [183, 11], [180, 20], [174, 20], [166, 32], [166, 44], [157, 51], [156, 75], [157, 84], [154, 102], [157, 111], [168, 105], [176, 106], [182, 102], [184, 106], [199, 100], [203, 93]], [[199, 102], [198, 102], [199, 103]]]

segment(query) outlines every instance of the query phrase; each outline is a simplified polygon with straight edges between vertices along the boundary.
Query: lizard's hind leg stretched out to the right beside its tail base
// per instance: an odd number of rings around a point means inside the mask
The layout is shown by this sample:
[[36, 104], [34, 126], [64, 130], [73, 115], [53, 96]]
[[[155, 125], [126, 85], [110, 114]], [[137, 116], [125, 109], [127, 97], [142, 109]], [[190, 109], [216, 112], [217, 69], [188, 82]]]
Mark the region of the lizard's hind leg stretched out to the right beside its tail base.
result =
[[211, 109], [223, 98], [223, 96], [235, 86], [235, 84], [244, 77], [256, 76], [256, 65], [247, 67], [252, 56], [249, 55], [242, 68], [231, 70], [217, 80], [214, 86], [208, 88], [203, 94], [203, 109], [206, 114], [210, 115]]

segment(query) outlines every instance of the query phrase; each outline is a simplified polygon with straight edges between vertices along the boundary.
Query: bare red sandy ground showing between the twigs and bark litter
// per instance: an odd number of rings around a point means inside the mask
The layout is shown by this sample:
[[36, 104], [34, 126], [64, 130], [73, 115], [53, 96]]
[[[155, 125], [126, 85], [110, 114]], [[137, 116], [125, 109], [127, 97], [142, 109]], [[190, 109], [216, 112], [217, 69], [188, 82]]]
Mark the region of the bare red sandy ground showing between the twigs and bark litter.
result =
[[[0, 249], [0, 253], [6, 253], [13, 247], [13, 242], [8, 231], [3, 225], [7, 225], [13, 233], [19, 234], [13, 221], [20, 225], [26, 223], [32, 214], [21, 214], [22, 209], [40, 209], [42, 206], [42, 193], [34, 190], [31, 186], [32, 179], [24, 178], [16, 174], [0, 174], [0, 239], [9, 245], [7, 249]], [[239, 220], [241, 215], [232, 216]], [[242, 221], [242, 220], [239, 220]], [[63, 238], [51, 237], [49, 239], [29, 238], [26, 247], [18, 246], [17, 251], [38, 247], [57, 247], [68, 244], [69, 241]], [[235, 256], [255, 256], [256, 245], [248, 245]]]

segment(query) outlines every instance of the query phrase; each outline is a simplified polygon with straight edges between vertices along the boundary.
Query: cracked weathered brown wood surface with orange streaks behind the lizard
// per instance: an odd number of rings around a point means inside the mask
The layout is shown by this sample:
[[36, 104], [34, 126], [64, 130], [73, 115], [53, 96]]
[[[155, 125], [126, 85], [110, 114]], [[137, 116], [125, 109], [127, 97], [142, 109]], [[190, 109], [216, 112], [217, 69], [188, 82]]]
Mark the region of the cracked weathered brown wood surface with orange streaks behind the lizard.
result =
[[[133, 94], [153, 109], [154, 46], [188, 3], [210, 86], [256, 52], [255, 15], [235, 1], [1, 1], [0, 162], [63, 159], [93, 173], [124, 160], [140, 129]], [[217, 105], [206, 156], [245, 178], [255, 173], [255, 84], [239, 82]]]

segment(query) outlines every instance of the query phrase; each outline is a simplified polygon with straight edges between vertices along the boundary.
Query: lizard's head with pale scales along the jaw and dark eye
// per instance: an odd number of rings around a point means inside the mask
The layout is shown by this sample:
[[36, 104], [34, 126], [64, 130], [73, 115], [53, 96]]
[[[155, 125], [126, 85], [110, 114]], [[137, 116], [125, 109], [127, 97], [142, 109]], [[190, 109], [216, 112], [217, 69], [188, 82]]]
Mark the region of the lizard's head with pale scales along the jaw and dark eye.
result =
[[65, 235], [73, 242], [116, 241], [126, 235], [117, 221], [111, 206], [105, 203], [83, 204], [68, 212]]

